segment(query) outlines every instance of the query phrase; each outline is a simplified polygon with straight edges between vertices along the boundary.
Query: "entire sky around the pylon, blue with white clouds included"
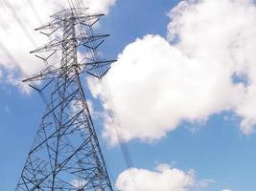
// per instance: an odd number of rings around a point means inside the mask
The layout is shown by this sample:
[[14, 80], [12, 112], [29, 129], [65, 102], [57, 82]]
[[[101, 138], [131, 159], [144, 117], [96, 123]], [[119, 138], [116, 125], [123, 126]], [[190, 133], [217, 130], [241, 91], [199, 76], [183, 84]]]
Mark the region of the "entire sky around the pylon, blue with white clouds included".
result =
[[[114, 124], [95, 78], [82, 79], [115, 189], [255, 190], [253, 0], [85, 4], [105, 13], [95, 27], [110, 34], [100, 53], [118, 60], [103, 79]], [[0, 190], [12, 191], [45, 109], [36, 92], [21, 83], [43, 67], [29, 52], [47, 38], [34, 29], [67, 2], [0, 5]], [[127, 142], [132, 168], [115, 129]]]

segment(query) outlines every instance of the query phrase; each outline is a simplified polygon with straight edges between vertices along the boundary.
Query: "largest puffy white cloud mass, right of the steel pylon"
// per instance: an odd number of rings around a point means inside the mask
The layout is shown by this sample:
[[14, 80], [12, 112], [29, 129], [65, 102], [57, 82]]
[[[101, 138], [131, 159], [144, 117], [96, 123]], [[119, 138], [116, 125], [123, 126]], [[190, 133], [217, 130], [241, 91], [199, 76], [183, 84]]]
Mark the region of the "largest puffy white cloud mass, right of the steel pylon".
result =
[[[105, 76], [124, 138], [154, 140], [182, 121], [233, 111], [249, 135], [256, 123], [256, 8], [252, 0], [181, 1], [168, 36], [129, 44]], [[93, 96], [99, 88], [89, 79]], [[105, 138], [116, 143], [109, 118]]]

